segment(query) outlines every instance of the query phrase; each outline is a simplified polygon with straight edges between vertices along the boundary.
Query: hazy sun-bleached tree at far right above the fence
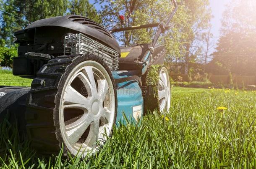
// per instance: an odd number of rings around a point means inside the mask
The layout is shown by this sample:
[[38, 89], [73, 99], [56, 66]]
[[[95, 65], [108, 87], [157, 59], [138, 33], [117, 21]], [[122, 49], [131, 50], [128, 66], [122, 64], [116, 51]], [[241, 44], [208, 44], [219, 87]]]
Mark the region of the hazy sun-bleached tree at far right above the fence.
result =
[[[223, 13], [211, 73], [256, 75], [256, 2], [236, 0]], [[250, 16], [250, 17], [248, 17]]]

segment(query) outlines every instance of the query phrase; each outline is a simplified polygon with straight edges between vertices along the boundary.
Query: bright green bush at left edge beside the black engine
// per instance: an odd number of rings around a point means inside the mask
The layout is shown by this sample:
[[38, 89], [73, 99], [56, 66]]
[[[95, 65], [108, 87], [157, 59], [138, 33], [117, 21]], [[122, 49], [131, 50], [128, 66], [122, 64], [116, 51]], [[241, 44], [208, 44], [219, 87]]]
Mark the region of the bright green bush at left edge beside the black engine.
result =
[[0, 42], [0, 66], [13, 66], [13, 57], [18, 56], [18, 45], [8, 47], [4, 40]]

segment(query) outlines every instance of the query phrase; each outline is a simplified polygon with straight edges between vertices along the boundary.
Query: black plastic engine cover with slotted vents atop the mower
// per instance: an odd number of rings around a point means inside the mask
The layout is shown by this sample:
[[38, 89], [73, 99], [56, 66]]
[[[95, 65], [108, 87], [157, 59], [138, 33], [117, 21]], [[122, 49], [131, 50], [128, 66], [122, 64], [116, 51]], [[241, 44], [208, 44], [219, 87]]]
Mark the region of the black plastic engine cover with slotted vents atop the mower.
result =
[[[82, 33], [120, 53], [115, 38], [104, 27], [89, 18], [79, 15], [47, 18], [37, 20], [24, 30], [14, 33], [17, 38], [16, 43], [19, 44], [19, 57], [13, 60], [13, 74], [24, 78], [35, 78], [37, 71], [50, 58], [64, 54], [65, 36], [76, 33]], [[26, 55], [29, 52], [47, 54], [50, 58], [31, 58]]]

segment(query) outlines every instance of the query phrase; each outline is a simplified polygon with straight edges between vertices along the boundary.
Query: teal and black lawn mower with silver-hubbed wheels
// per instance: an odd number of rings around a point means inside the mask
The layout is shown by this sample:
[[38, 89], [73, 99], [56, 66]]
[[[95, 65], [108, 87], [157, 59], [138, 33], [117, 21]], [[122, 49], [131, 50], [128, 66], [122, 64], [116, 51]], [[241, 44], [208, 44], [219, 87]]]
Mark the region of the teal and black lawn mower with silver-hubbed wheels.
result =
[[[64, 155], [85, 156], [104, 145], [120, 121], [138, 122], [148, 110], [167, 111], [171, 92], [163, 66], [166, 50], [156, 44], [170, 28], [178, 9], [175, 0], [173, 4], [175, 9], [160, 23], [108, 31], [89, 18], [66, 15], [17, 31], [13, 75], [33, 81], [30, 88], [0, 88], [1, 122], [6, 114], [18, 119], [19, 130], [26, 131], [39, 154], [56, 154], [63, 146]], [[112, 35], [154, 27], [149, 44], [120, 47]], [[155, 65], [154, 82], [149, 71]]]

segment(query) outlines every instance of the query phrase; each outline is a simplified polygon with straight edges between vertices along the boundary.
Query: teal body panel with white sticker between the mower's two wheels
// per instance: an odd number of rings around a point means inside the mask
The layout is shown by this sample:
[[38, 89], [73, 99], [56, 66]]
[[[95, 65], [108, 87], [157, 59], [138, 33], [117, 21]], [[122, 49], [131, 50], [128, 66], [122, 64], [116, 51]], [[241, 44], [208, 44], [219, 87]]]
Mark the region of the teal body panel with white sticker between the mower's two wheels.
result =
[[[136, 71], [113, 71], [114, 79], [134, 76]], [[143, 116], [143, 96], [140, 84], [136, 80], [124, 81], [116, 84], [118, 98], [118, 112], [116, 124], [126, 124], [125, 116], [131, 123], [138, 122]]]

